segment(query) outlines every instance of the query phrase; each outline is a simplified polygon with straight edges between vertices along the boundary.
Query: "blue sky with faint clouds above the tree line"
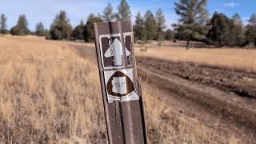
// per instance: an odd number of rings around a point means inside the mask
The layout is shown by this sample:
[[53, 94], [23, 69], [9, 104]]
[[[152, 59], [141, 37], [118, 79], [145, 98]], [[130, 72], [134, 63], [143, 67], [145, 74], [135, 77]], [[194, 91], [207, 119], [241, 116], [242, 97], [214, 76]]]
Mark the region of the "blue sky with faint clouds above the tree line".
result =
[[[174, 2], [178, 0], [127, 0], [134, 16], [140, 11], [142, 14], [146, 10], [155, 13], [158, 8], [162, 8], [166, 16], [166, 25], [170, 27], [173, 22], [177, 22], [178, 16], [174, 12]], [[66, 10], [72, 26], [86, 18], [90, 13], [102, 14], [107, 3], [111, 2], [114, 11], [120, 0], [1, 0], [0, 14], [7, 16], [8, 28], [16, 25], [19, 14], [26, 14], [29, 27], [34, 30], [36, 23], [43, 22], [46, 28], [50, 26], [54, 17], [60, 10]], [[209, 0], [208, 9], [210, 14], [214, 11], [222, 12], [228, 16], [235, 13], [241, 15], [244, 22], [247, 22], [251, 14], [256, 14], [256, 1], [254, 0]]]

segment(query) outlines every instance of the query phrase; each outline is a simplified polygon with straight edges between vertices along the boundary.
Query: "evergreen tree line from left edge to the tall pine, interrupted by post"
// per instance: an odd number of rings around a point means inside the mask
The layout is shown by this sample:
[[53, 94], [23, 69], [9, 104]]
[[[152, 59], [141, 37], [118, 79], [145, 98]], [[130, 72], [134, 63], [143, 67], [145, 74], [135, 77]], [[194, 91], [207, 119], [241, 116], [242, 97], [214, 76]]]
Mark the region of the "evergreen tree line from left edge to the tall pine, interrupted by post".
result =
[[[1, 22], [5, 23], [4, 28], [1, 30], [6, 30], [6, 34], [9, 31], [6, 29], [6, 16], [2, 14], [5, 20]], [[93, 23], [94, 22], [112, 22], [121, 20], [130, 20], [131, 11], [130, 6], [126, 0], [122, 0], [118, 6], [118, 12], [114, 13], [114, 8], [110, 3], [103, 10], [102, 14], [90, 14], [87, 18], [87, 22], [81, 20], [78, 26], [74, 29], [70, 25], [70, 19], [67, 17], [65, 11], [61, 10], [54, 18], [50, 26], [50, 30], [46, 30], [42, 22], [38, 22], [34, 31], [29, 30], [28, 21], [24, 14], [20, 15], [16, 26], [10, 29], [10, 34], [13, 35], [26, 35], [35, 34], [38, 36], [46, 36], [47, 39], [61, 40], [84, 40], [85, 42], [91, 42], [94, 40], [93, 33]], [[3, 25], [1, 25], [3, 26]], [[174, 33], [172, 30], [166, 29], [166, 20], [162, 10], [159, 9], [157, 13], [154, 14], [148, 10], [144, 17], [138, 13], [136, 17], [136, 22], [134, 25], [134, 38], [136, 40], [159, 40], [172, 39], [174, 38]], [[3, 33], [2, 33], [3, 34]]]

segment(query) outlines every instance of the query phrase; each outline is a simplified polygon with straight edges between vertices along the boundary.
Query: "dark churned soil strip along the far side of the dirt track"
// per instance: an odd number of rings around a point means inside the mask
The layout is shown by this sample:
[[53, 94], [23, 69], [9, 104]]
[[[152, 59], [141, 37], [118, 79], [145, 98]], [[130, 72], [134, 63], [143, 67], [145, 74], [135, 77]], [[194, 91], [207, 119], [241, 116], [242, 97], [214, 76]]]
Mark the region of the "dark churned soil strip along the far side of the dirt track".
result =
[[187, 79], [190, 82], [213, 86], [245, 98], [256, 98], [256, 74], [220, 70], [188, 62], [155, 60], [154, 58], [138, 58], [138, 63]]

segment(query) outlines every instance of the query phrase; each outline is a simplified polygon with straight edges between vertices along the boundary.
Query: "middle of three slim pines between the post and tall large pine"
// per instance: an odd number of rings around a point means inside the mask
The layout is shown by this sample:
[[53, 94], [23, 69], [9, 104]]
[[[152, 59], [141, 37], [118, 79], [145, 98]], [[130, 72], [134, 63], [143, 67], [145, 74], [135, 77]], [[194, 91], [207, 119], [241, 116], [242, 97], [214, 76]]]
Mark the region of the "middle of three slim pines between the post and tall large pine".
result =
[[158, 33], [157, 22], [155, 21], [154, 14], [148, 10], [145, 14], [145, 29], [146, 40], [154, 40]]

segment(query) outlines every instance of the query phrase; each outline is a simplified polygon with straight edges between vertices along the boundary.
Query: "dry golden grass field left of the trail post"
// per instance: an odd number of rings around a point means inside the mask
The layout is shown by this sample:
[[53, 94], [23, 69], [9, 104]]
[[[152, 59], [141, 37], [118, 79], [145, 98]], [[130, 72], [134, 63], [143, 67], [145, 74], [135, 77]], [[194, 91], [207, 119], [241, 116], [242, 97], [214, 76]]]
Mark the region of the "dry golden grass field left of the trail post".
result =
[[0, 37], [0, 141], [106, 140], [97, 67], [69, 44]]

